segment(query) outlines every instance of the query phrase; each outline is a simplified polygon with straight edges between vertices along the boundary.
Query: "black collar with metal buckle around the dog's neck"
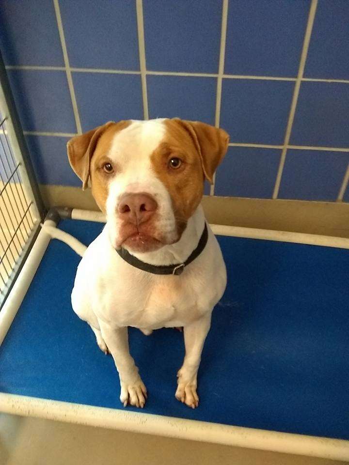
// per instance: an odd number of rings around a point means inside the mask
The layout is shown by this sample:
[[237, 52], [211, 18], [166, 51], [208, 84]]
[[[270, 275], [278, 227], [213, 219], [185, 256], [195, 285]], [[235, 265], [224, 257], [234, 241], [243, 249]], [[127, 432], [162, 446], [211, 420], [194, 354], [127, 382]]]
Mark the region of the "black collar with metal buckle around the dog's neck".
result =
[[196, 259], [200, 255], [200, 253], [204, 250], [207, 244], [208, 232], [207, 232], [207, 225], [205, 222], [204, 231], [201, 234], [199, 244], [197, 248], [191, 252], [187, 260], [183, 263], [177, 263], [175, 265], [151, 265], [150, 263], [142, 262], [134, 255], [131, 255], [125, 248], [120, 248], [116, 250], [117, 253], [120, 255], [125, 262], [129, 263], [130, 265], [134, 266], [143, 271], [147, 271], [148, 273], [153, 273], [154, 275], [180, 275], [182, 274], [184, 268], [189, 265], [193, 260]]

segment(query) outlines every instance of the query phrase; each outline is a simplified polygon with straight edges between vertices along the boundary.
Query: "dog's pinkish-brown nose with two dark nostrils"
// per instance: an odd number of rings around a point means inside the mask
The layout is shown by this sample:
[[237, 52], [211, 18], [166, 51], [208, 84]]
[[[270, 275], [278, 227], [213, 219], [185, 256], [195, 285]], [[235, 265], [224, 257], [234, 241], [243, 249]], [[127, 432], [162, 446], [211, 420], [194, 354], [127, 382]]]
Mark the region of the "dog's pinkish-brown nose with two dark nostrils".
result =
[[148, 221], [157, 208], [157, 202], [148, 194], [125, 194], [117, 209], [120, 218], [137, 226]]

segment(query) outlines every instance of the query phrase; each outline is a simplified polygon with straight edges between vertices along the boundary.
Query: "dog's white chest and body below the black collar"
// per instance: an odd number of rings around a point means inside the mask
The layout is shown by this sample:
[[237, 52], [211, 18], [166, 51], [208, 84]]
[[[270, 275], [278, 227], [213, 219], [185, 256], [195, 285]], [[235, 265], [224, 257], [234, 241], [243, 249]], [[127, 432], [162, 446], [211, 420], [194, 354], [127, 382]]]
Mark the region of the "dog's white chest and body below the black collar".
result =
[[213, 240], [182, 275], [162, 276], [138, 270], [116, 253], [103, 253], [99, 238], [79, 264], [72, 295], [74, 311], [86, 321], [97, 317], [112, 326], [142, 329], [185, 326], [222, 297], [225, 266]]

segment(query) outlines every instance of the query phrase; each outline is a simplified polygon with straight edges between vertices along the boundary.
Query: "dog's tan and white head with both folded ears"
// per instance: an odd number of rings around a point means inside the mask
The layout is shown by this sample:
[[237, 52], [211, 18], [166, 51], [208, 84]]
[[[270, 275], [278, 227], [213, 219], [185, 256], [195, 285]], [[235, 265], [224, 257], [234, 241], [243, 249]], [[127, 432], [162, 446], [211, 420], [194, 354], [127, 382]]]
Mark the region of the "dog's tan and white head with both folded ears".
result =
[[109, 122], [68, 142], [70, 164], [107, 214], [111, 244], [146, 252], [177, 242], [229, 136], [209, 124]]

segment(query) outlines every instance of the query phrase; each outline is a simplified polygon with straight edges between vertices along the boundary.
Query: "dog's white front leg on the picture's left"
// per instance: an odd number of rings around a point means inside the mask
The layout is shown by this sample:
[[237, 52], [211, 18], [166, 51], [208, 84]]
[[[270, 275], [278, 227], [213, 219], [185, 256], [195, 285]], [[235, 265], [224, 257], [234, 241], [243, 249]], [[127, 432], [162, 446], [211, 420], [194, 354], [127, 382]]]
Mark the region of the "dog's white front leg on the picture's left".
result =
[[129, 353], [127, 327], [112, 328], [103, 321], [98, 321], [103, 339], [119, 372], [120, 401], [124, 404], [124, 407], [126, 407], [127, 403], [130, 403], [143, 408], [147, 397], [146, 388]]

